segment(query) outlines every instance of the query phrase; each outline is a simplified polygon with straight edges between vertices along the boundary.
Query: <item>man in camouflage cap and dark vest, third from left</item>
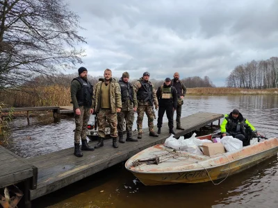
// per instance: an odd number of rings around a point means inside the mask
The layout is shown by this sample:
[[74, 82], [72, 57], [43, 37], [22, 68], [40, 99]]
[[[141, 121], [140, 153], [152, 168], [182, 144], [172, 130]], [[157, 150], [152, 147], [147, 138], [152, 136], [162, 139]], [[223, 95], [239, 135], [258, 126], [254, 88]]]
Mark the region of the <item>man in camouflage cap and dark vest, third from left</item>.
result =
[[119, 80], [122, 94], [122, 110], [117, 113], [117, 132], [119, 142], [124, 143], [124, 120], [126, 121], [126, 141], [138, 141], [132, 138], [134, 112], [137, 110], [137, 98], [134, 87], [129, 83], [129, 73], [125, 71]]

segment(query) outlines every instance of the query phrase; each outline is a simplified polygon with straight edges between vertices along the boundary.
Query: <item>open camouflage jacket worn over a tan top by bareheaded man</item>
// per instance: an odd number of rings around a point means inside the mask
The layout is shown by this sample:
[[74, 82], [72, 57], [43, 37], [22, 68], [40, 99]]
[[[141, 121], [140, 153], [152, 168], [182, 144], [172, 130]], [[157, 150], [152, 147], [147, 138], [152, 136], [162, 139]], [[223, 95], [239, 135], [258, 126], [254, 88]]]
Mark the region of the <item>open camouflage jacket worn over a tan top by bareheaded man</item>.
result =
[[[92, 100], [92, 107], [95, 109], [95, 112], [100, 110], [100, 98], [101, 98], [101, 84], [104, 82], [104, 78], [100, 78], [99, 82], [94, 87], [94, 95]], [[109, 102], [111, 106], [111, 112], [116, 113], [117, 108], [122, 108], [122, 99], [121, 99], [121, 89], [119, 83], [116, 82], [114, 78], [111, 78], [109, 87]]]

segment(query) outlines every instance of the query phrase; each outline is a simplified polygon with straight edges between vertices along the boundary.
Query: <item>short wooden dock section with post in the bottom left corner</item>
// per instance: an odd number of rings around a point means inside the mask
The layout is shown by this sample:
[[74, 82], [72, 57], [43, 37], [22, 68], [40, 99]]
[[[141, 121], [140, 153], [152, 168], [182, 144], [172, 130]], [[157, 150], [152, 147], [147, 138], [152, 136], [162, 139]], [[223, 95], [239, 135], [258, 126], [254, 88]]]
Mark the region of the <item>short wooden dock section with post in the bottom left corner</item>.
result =
[[0, 164], [0, 188], [24, 182], [25, 205], [31, 207], [29, 190], [37, 188], [38, 168], [3, 146], [0, 146]]

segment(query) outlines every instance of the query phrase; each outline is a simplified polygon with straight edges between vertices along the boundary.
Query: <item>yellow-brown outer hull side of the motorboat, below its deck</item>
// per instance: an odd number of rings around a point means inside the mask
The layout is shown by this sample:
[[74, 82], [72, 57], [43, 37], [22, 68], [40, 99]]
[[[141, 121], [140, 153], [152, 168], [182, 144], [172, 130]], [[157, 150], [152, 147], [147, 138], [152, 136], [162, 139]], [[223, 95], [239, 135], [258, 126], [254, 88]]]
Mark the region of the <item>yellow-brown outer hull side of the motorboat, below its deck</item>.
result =
[[[196, 162], [199, 163], [199, 168], [195, 168], [195, 170], [187, 169], [184, 171], [175, 170], [171, 172], [167, 169], [165, 173], [161, 170], [159, 173], [156, 173], [158, 171], [138, 171], [138, 168], [136, 170], [132, 168], [128, 169], [146, 186], [208, 182], [211, 180], [224, 179], [227, 175], [240, 173], [247, 168], [263, 162], [265, 159], [277, 155], [277, 144], [278, 142], [276, 140], [275, 144], [272, 144], [272, 146], [260, 144], [258, 146], [249, 146], [235, 153], [226, 153], [226, 161], [223, 162], [225, 157], [222, 157], [222, 159], [217, 160], [219, 165], [216, 164], [215, 166], [204, 167], [202, 165], [204, 162]], [[243, 154], [244, 157], [240, 158], [240, 153]], [[227, 162], [228, 160], [229, 162]]]

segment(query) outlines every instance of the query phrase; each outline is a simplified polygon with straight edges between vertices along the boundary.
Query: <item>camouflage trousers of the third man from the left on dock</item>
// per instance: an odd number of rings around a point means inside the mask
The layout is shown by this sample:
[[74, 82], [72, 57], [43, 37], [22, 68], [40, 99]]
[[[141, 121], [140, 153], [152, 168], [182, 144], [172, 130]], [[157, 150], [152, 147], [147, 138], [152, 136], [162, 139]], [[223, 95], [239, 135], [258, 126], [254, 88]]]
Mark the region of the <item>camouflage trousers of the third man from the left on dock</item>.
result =
[[126, 132], [132, 131], [132, 125], [134, 121], [133, 110], [121, 111], [117, 113], [117, 131], [124, 132], [124, 120], [126, 120]]

